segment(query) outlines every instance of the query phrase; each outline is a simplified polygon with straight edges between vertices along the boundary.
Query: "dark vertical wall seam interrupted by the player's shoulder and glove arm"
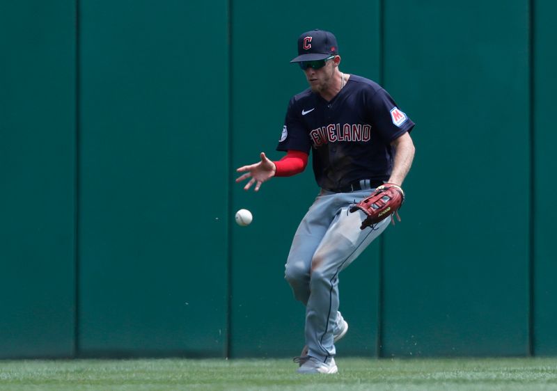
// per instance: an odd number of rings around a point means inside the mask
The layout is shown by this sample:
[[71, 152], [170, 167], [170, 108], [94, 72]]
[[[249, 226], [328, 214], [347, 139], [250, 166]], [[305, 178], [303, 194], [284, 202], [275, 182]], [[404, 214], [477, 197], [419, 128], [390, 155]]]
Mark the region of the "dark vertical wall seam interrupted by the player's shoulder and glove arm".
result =
[[[378, 3], [378, 29], [379, 29], [379, 84], [384, 83], [384, 0]], [[377, 337], [375, 349], [377, 358], [383, 356], [383, 308], [384, 308], [384, 260], [385, 260], [385, 235], [379, 235], [379, 262], [377, 262]]]

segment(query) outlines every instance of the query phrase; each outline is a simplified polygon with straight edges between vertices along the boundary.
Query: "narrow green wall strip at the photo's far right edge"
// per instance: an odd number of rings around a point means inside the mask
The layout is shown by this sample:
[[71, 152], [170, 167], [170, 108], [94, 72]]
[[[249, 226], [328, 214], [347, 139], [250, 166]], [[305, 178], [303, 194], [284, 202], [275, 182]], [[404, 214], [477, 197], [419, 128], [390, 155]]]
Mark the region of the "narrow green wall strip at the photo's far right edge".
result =
[[[554, 94], [557, 81], [555, 42], [557, 27], [555, 13], [557, 4], [549, 0], [535, 1], [534, 8], [534, 353], [541, 356], [557, 354], [557, 308], [555, 298], [557, 287], [557, 255], [555, 250], [555, 231], [557, 221], [554, 208], [557, 189], [549, 179], [557, 172], [554, 146], [557, 136], [554, 130]], [[549, 180], [548, 180], [549, 179]]]

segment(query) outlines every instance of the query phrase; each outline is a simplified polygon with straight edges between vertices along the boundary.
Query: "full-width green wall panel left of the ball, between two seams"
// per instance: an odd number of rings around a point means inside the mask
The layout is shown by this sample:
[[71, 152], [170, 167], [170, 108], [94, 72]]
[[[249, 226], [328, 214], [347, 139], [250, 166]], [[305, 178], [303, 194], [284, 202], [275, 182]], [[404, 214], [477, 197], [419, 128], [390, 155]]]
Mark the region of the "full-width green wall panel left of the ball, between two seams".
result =
[[224, 354], [226, 13], [81, 1], [81, 356]]

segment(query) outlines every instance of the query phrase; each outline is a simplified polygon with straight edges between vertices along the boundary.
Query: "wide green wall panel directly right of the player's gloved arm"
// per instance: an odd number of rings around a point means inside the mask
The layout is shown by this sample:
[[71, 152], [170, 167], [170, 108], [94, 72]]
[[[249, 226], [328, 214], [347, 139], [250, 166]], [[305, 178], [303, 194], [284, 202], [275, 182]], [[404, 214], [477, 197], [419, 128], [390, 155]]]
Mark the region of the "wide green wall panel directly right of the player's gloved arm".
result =
[[524, 355], [528, 1], [385, 4], [385, 86], [417, 152], [386, 235], [383, 355]]

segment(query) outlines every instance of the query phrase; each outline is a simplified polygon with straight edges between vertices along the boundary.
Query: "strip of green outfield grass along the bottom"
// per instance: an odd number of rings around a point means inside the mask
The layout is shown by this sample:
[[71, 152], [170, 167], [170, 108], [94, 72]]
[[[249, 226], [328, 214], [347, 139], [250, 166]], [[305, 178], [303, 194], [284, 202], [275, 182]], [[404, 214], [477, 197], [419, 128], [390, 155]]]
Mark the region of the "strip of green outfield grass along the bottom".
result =
[[299, 375], [288, 359], [0, 361], [0, 390], [557, 390], [557, 358], [342, 358]]

